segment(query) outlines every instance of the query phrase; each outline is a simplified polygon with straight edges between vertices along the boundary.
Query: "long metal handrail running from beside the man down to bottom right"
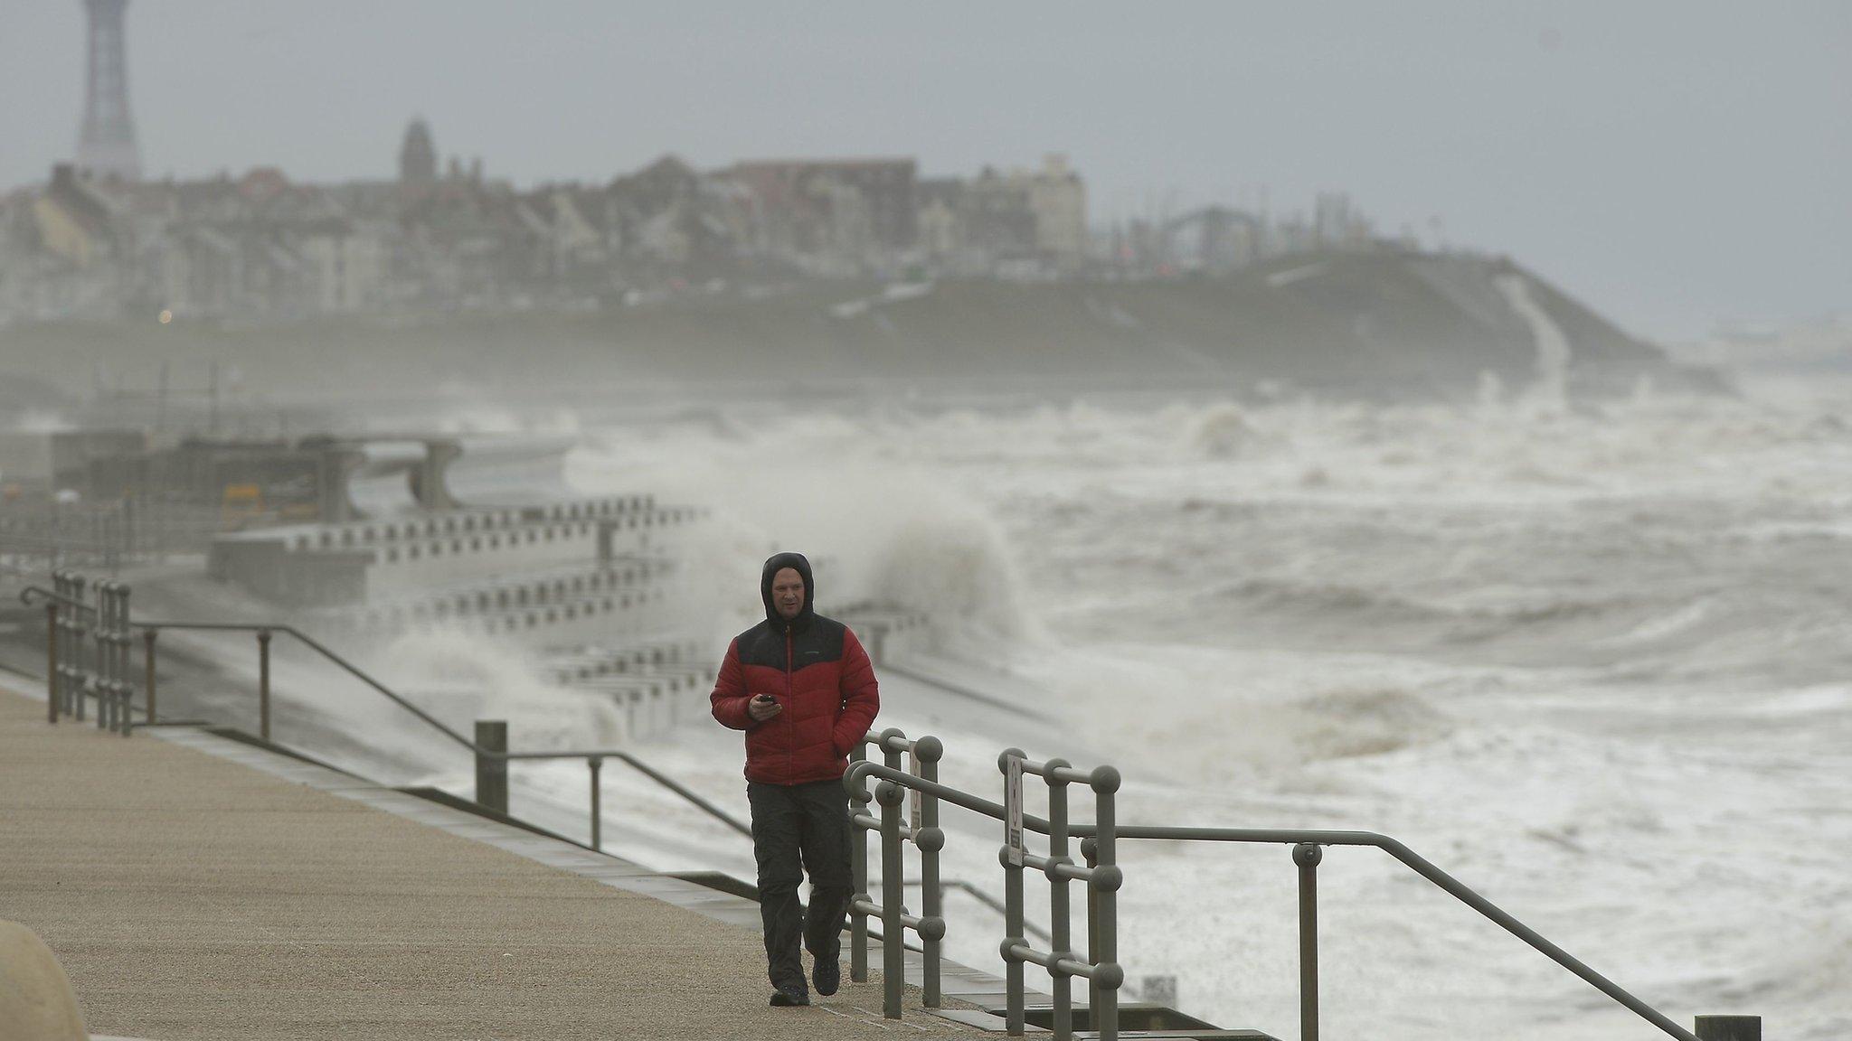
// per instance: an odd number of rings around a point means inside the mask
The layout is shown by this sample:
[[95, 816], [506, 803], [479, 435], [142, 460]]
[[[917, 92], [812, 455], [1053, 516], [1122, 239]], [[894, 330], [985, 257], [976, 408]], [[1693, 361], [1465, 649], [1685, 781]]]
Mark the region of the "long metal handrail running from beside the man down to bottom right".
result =
[[[887, 767], [883, 767], [880, 763], [872, 763], [872, 761], [852, 763], [848, 774], [845, 776], [845, 784], [852, 785], [852, 789], [861, 789], [861, 785], [865, 785], [867, 778], [870, 778], [870, 776], [878, 776], [882, 780], [887, 780], [887, 782], [893, 782], [893, 784], [898, 784], [898, 785], [917, 787], [917, 789], [920, 789], [924, 793], [930, 793], [930, 795], [941, 798], [943, 802], [950, 802], [954, 806], [961, 806], [961, 808], [970, 809], [972, 813], [980, 813], [983, 817], [993, 817], [996, 821], [1004, 821], [1006, 819], [1002, 804], [996, 804], [996, 802], [991, 802], [989, 798], [982, 798], [982, 796], [959, 791], [956, 787], [948, 787], [945, 784], [924, 782], [924, 780], [920, 780], [917, 776], [907, 774], [906, 771], [891, 771], [891, 769], [887, 769]], [[1048, 834], [1048, 821], [1045, 821], [1041, 817], [1035, 817], [1035, 815], [1030, 815], [1030, 813], [1022, 815], [1022, 826], [1028, 828], [1028, 830], [1032, 830], [1032, 832], [1037, 832], [1041, 835]], [[1069, 834], [1080, 835], [1080, 837], [1091, 837], [1091, 835], [1096, 834], [1096, 828], [1091, 826], [1091, 824], [1070, 824], [1069, 826]], [[1463, 884], [1458, 878], [1454, 878], [1452, 874], [1441, 871], [1430, 859], [1422, 858], [1420, 854], [1417, 854], [1415, 850], [1408, 848], [1404, 843], [1400, 843], [1398, 839], [1393, 839], [1389, 835], [1382, 835], [1382, 834], [1376, 834], [1376, 832], [1328, 832], [1328, 830], [1311, 830], [1311, 828], [1180, 828], [1180, 826], [1154, 826], [1154, 824], [1119, 824], [1119, 826], [1113, 828], [1113, 835], [1117, 839], [1161, 839], [1161, 841], [1185, 841], [1185, 843], [1269, 843], [1269, 845], [1276, 845], [1278, 843], [1278, 845], [1295, 845], [1295, 847], [1298, 847], [1298, 845], [1309, 845], [1309, 847], [1376, 847], [1376, 848], [1383, 850], [1385, 854], [1393, 856], [1395, 859], [1402, 861], [1406, 867], [1413, 869], [1417, 874], [1420, 874], [1428, 882], [1433, 882], [1437, 887], [1441, 887], [1445, 893], [1448, 893], [1456, 900], [1459, 900], [1459, 902], [1467, 904], [1469, 908], [1472, 908], [1474, 911], [1485, 915], [1487, 919], [1491, 919], [1493, 922], [1496, 922], [1498, 926], [1502, 926], [1511, 935], [1522, 939], [1532, 948], [1535, 948], [1537, 952], [1545, 954], [1546, 958], [1550, 958], [1552, 961], [1556, 961], [1563, 969], [1569, 969], [1570, 972], [1574, 972], [1576, 976], [1580, 976], [1582, 980], [1585, 980], [1589, 985], [1593, 985], [1595, 989], [1602, 991], [1604, 995], [1608, 995], [1609, 998], [1613, 998], [1615, 1002], [1619, 1002], [1620, 1006], [1624, 1006], [1628, 1011], [1639, 1015], [1646, 1022], [1658, 1026], [1659, 1030], [1663, 1030], [1665, 1034], [1669, 1034], [1672, 1037], [1678, 1037], [1680, 1041], [1698, 1041], [1696, 1034], [1693, 1034], [1693, 1032], [1685, 1030], [1683, 1026], [1672, 1022], [1672, 1019], [1669, 1019], [1665, 1013], [1661, 1013], [1659, 1010], [1648, 1006], [1641, 998], [1630, 995], [1628, 991], [1624, 991], [1619, 984], [1615, 984], [1608, 976], [1602, 976], [1595, 969], [1589, 969], [1582, 959], [1578, 959], [1576, 956], [1569, 954], [1567, 950], [1563, 950], [1561, 947], [1558, 947], [1556, 943], [1550, 943], [1541, 934], [1537, 934], [1533, 928], [1526, 926], [1517, 917], [1513, 917], [1509, 911], [1498, 908], [1496, 904], [1493, 904], [1485, 897], [1480, 897], [1467, 884]], [[1317, 863], [1317, 861], [1313, 861], [1313, 863]]]

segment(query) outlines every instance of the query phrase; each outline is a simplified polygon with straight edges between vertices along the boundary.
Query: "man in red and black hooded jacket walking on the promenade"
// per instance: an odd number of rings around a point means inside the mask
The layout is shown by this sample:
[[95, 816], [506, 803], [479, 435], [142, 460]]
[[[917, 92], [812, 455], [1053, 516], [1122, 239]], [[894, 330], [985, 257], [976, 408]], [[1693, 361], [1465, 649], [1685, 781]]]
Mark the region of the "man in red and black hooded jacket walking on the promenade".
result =
[[[713, 685], [713, 717], [746, 732], [746, 798], [759, 863], [759, 917], [774, 1006], [809, 1004], [798, 943], [819, 995], [841, 982], [848, 872], [848, 752], [880, 711], [874, 665], [843, 622], [813, 608], [802, 554], [776, 554], [759, 576], [765, 621], [733, 637]], [[809, 919], [798, 906], [811, 878]]]

